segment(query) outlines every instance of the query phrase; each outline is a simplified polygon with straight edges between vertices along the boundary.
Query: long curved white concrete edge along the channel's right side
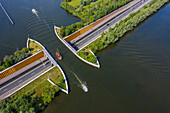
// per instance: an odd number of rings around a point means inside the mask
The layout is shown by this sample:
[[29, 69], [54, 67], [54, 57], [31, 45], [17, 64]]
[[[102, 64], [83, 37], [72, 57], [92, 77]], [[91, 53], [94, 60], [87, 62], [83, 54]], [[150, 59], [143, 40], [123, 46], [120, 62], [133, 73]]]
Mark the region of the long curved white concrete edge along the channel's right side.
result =
[[59, 36], [59, 35], [57, 34], [57, 32], [56, 32], [56, 28], [58, 28], [58, 27], [54, 26], [54, 32], [55, 32], [56, 36], [58, 37], [58, 39], [59, 39], [68, 49], [71, 50], [71, 52], [72, 52], [74, 55], [76, 55], [76, 56], [77, 56], [80, 60], [82, 60], [83, 62], [85, 62], [85, 63], [87, 63], [87, 64], [89, 64], [89, 65], [91, 65], [91, 66], [93, 66], [93, 67], [100, 68], [100, 65], [93, 64], [93, 63], [88, 62], [87, 60], [84, 60], [83, 58], [81, 58], [81, 57], [76, 53], [76, 51], [74, 50], [74, 48], [72, 48], [64, 39], [60, 38], [60, 36]]

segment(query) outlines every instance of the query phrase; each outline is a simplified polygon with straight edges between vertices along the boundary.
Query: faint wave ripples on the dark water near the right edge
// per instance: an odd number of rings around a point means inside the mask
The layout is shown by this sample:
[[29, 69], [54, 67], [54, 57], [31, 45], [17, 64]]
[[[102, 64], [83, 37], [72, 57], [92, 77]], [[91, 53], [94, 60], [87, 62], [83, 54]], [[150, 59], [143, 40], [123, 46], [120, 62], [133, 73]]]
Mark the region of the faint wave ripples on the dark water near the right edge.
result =
[[[146, 45], [146, 44], [145, 44]], [[119, 46], [123, 52], [134, 59], [134, 61], [140, 65], [149, 67], [149, 69], [155, 73], [160, 73], [161, 78], [170, 80], [170, 65], [162, 62], [153, 49], [150, 49], [148, 45], [143, 46], [140, 43], [123, 42]]]

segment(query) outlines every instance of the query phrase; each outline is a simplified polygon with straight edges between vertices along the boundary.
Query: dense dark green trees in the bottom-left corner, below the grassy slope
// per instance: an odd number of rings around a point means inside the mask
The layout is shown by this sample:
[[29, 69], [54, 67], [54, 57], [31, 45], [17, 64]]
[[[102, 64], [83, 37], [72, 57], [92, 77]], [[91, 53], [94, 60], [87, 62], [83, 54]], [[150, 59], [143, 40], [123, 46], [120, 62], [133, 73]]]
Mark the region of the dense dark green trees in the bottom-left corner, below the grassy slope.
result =
[[[50, 84], [51, 86], [51, 84]], [[10, 96], [0, 102], [1, 113], [37, 113], [45, 109], [47, 104], [55, 97], [59, 88], [56, 87], [44, 88], [40, 96], [34, 95], [32, 90], [28, 94], [22, 94], [15, 97]]]

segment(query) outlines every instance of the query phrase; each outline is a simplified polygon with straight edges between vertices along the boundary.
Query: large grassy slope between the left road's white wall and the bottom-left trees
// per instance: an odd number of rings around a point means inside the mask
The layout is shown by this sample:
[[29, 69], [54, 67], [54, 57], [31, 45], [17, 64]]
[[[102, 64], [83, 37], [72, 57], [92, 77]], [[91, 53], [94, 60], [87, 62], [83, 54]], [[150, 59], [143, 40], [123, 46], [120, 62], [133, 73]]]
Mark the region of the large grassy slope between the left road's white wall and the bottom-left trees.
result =
[[[23, 93], [27, 94], [33, 90], [35, 91], [34, 95], [41, 96], [42, 91], [45, 88], [54, 87], [51, 83], [48, 82], [47, 80], [48, 78], [50, 78], [55, 84], [59, 85], [60, 87], [61, 87], [60, 84], [62, 84], [63, 86], [62, 88], [66, 87], [65, 83], [62, 83], [64, 78], [62, 76], [61, 71], [59, 70], [58, 67], [54, 67], [52, 70], [48, 71], [47, 73], [45, 73], [38, 79], [31, 82], [29, 85], [25, 86], [24, 88], [16, 92], [14, 96], [18, 97], [22, 95]], [[56, 87], [56, 90], [59, 91], [59, 88]]]

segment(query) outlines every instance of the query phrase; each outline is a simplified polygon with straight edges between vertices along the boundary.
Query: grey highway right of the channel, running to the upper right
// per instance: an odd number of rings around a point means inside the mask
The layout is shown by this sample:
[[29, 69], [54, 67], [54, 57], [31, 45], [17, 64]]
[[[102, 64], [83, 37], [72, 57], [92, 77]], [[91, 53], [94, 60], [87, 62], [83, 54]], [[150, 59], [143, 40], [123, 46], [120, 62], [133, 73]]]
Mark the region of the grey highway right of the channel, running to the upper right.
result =
[[140, 6], [143, 6], [146, 4], [148, 0], [140, 1], [133, 7], [129, 8], [128, 10], [124, 11], [123, 13], [119, 14], [118, 16], [108, 20], [104, 24], [102, 24], [100, 27], [96, 29], [92, 29], [91, 32], [89, 32], [87, 35], [79, 38], [79, 40], [75, 41], [74, 43], [70, 43], [76, 51], [81, 50], [91, 42], [95, 41], [97, 38], [100, 37], [101, 33], [103, 31], [106, 31], [109, 29], [109, 27], [114, 27], [114, 25], [119, 22], [121, 19], [127, 17], [130, 13], [138, 9]]

